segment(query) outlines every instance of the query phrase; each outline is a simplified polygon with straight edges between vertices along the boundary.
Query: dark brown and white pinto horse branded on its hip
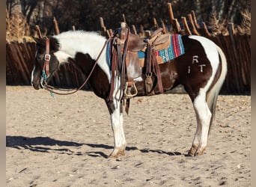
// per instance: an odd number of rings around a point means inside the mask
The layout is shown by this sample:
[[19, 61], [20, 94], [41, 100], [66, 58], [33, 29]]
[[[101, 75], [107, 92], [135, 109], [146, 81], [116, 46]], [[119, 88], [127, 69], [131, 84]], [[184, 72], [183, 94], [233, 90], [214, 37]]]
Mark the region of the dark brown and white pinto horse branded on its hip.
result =
[[[127, 142], [120, 98], [124, 91], [121, 90], [120, 74], [112, 73], [106, 61], [106, 38], [96, 32], [66, 31], [34, 40], [37, 43], [37, 52], [31, 73], [31, 85], [37, 90], [45, 88], [59, 65], [73, 63], [89, 78], [88, 83], [94, 93], [104, 99], [109, 108], [114, 133], [114, 150], [110, 157], [124, 156]], [[216, 99], [227, 73], [227, 62], [222, 49], [206, 37], [190, 35], [182, 36], [181, 40], [185, 54], [159, 64], [159, 70], [163, 91], [183, 85], [192, 100], [197, 129], [189, 155], [196, 156], [203, 154], [207, 146], [208, 133], [215, 117]], [[45, 62], [48, 64], [45, 65]], [[109, 99], [112, 76], [115, 85], [112, 99]], [[136, 96], [146, 95], [144, 79], [145, 76], [135, 79], [138, 90]], [[156, 90], [155, 93], [159, 91]]]

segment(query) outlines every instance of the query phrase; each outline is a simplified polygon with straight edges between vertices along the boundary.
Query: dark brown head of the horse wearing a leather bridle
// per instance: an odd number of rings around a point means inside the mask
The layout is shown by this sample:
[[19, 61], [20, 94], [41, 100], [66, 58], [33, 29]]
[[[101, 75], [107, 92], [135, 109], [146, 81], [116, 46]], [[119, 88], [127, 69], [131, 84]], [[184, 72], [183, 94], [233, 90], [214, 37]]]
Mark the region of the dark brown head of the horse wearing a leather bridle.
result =
[[34, 37], [34, 40], [37, 43], [37, 52], [31, 73], [31, 85], [38, 90], [49, 82], [58, 69], [59, 61], [54, 54], [58, 51], [59, 44], [54, 37]]

